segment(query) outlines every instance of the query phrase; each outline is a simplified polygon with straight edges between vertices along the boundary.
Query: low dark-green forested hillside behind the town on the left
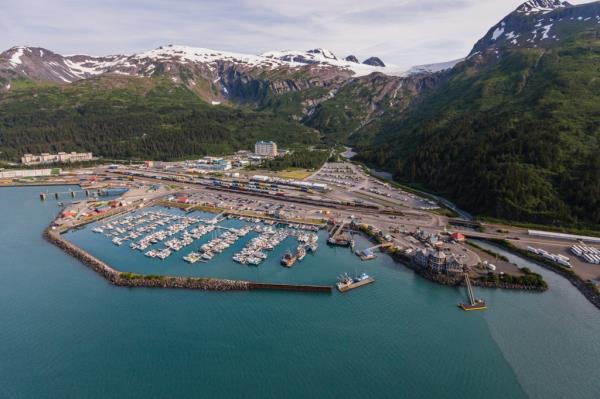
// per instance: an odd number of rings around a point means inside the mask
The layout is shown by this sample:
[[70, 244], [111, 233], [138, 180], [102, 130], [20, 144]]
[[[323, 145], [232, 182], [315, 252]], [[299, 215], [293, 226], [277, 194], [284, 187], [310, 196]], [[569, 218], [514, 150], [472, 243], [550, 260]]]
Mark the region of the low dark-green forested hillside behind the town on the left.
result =
[[0, 157], [86, 150], [112, 158], [176, 159], [319, 142], [272, 112], [213, 106], [169, 79], [101, 76], [70, 85], [13, 81], [0, 95]]

